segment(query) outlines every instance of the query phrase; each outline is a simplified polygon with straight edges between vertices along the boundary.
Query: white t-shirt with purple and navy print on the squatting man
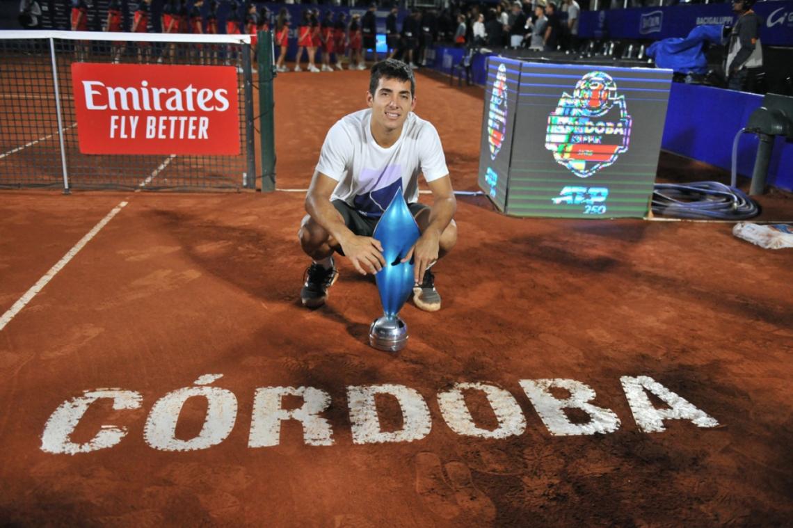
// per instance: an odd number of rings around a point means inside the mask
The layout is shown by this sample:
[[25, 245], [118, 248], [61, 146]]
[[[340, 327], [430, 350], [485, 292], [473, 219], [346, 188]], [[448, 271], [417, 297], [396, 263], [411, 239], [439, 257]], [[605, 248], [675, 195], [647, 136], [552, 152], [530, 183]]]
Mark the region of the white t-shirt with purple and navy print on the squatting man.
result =
[[383, 148], [372, 137], [372, 109], [342, 117], [328, 131], [316, 172], [339, 182], [331, 200], [343, 200], [364, 216], [377, 218], [400, 191], [419, 200], [419, 173], [432, 182], [449, 174], [438, 131], [408, 113], [396, 143]]

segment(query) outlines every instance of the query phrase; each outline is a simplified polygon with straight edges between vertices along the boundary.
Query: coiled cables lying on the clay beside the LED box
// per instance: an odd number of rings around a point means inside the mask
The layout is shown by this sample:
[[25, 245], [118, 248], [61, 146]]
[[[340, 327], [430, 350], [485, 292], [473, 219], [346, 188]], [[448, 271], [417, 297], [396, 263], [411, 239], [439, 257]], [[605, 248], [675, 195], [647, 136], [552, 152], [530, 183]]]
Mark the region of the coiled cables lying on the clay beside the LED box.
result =
[[653, 189], [653, 214], [746, 220], [760, 214], [760, 208], [740, 189], [719, 182], [657, 183]]

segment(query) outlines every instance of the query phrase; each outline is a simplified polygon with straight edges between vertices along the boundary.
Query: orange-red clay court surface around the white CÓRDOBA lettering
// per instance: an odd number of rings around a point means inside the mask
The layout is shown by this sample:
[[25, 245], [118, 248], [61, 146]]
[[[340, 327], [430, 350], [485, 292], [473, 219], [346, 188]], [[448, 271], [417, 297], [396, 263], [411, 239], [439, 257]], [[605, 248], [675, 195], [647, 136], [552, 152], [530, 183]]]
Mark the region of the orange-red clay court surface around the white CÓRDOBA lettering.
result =
[[[277, 79], [279, 188], [308, 186], [325, 132], [362, 107], [367, 83], [368, 72], [347, 71]], [[481, 89], [419, 75], [417, 97], [454, 186], [476, 189]], [[711, 178], [694, 170], [702, 167], [662, 156], [661, 177]], [[374, 282], [345, 260], [328, 304], [301, 307], [303, 198], [2, 193], [0, 315], [128, 202], [0, 331], [3, 524], [791, 526], [789, 251], [735, 239], [730, 224], [520, 220], [461, 198], [458, 247], [436, 266], [442, 310], [408, 302], [408, 347], [387, 354], [367, 344], [381, 315]], [[789, 195], [761, 203], [764, 218], [793, 219]], [[205, 450], [155, 450], [144, 440], [155, 402], [205, 374], [222, 374], [211, 386], [236, 396], [228, 438]], [[672, 419], [664, 432], [640, 430], [625, 376], [652, 377], [718, 427]], [[546, 378], [591, 387], [591, 403], [614, 411], [619, 429], [551, 434], [519, 385]], [[455, 433], [437, 395], [458, 382], [508, 391], [525, 432]], [[429, 434], [354, 442], [347, 388], [383, 384], [423, 396]], [[276, 386], [328, 392], [322, 416], [333, 445], [307, 446], [289, 420], [278, 446], [249, 447], [255, 392]], [[110, 425], [126, 428], [121, 442], [44, 452], [56, 408], [98, 388], [139, 392], [140, 406], [98, 400], [71, 442]], [[477, 427], [499, 425], [482, 392], [465, 391], [465, 402]], [[187, 400], [176, 438], [196, 437], [207, 407]], [[384, 431], [404, 425], [393, 397], [378, 396], [377, 415]]]

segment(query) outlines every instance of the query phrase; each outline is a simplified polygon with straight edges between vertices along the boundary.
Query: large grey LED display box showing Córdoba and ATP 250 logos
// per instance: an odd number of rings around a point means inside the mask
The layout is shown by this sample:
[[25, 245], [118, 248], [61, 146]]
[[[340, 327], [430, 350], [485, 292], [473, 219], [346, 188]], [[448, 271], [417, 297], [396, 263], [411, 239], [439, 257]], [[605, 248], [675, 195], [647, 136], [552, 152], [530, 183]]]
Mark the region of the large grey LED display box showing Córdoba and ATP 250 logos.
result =
[[672, 71], [489, 57], [479, 186], [515, 216], [645, 216]]

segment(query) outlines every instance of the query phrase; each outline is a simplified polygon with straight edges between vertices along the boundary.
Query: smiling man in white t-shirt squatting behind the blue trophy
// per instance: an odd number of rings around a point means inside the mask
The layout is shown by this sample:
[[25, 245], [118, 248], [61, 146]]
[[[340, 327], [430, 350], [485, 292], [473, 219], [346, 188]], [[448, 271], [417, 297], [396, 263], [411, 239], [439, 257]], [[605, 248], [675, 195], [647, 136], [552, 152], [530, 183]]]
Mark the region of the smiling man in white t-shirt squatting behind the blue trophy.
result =
[[[331, 127], [320, 151], [299, 232], [312, 258], [301, 301], [308, 308], [325, 304], [339, 276], [335, 251], [363, 275], [387, 264], [372, 235], [392, 198], [403, 193], [421, 236], [402, 262], [412, 258], [415, 264], [414, 304], [435, 312], [441, 297], [430, 267], [457, 242], [457, 202], [443, 147], [435, 127], [413, 113], [416, 80], [402, 61], [385, 59], [372, 67], [366, 103], [368, 109]], [[419, 174], [432, 192], [431, 207], [418, 202]]]

